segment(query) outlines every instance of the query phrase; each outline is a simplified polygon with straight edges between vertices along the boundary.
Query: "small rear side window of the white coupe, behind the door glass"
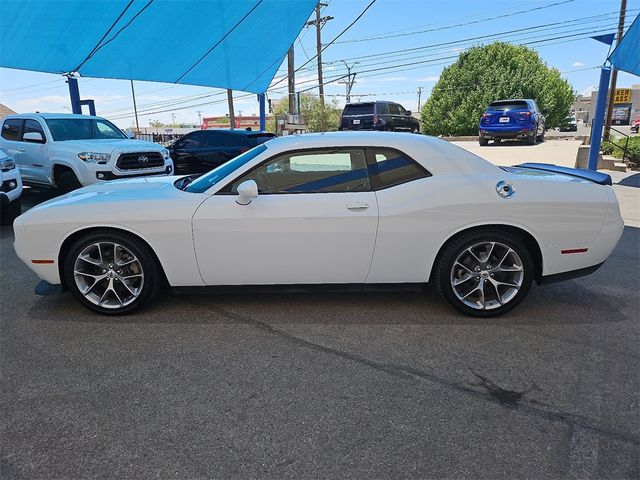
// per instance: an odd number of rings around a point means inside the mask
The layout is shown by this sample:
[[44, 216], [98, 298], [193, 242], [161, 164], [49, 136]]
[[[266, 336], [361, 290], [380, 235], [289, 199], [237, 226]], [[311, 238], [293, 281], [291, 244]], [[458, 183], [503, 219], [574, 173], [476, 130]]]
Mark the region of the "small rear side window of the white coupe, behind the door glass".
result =
[[404, 153], [389, 149], [367, 149], [369, 175], [374, 190], [430, 177], [421, 165]]

